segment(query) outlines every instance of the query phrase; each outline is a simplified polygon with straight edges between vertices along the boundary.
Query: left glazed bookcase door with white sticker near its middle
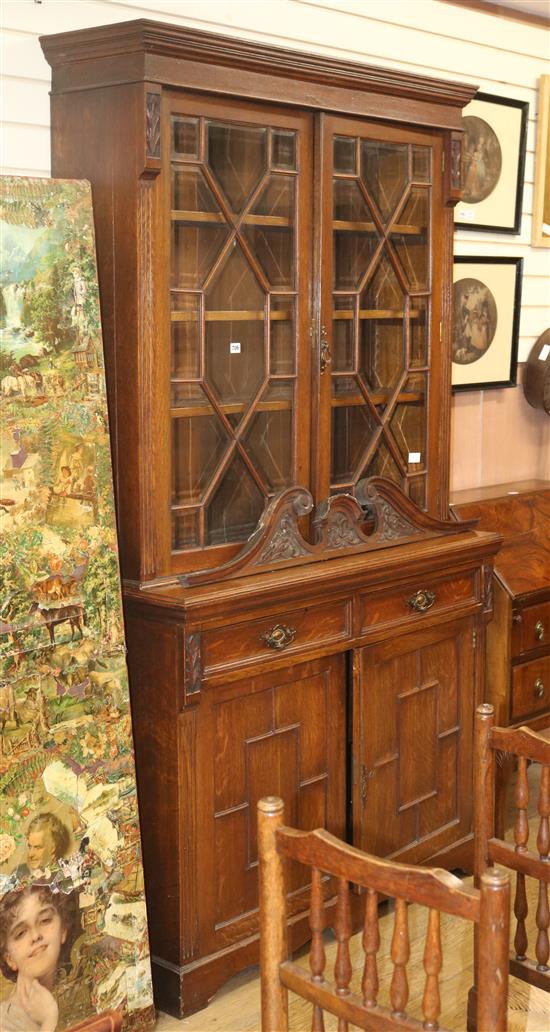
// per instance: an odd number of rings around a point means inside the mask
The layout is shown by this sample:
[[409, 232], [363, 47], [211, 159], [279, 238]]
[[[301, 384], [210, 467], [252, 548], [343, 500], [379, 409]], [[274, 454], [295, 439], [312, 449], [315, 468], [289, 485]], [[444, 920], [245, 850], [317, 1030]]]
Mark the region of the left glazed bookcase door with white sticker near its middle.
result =
[[277, 491], [309, 483], [312, 124], [164, 101], [177, 571], [225, 561]]

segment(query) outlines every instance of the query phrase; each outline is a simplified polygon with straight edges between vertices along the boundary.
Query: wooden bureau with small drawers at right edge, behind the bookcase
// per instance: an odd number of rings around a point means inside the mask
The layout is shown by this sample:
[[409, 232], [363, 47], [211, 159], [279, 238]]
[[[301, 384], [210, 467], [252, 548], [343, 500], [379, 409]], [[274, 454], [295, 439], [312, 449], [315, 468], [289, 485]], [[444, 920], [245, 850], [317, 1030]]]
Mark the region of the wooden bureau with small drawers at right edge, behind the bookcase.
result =
[[550, 482], [457, 492], [461, 519], [503, 535], [487, 633], [486, 692], [500, 725], [550, 723]]

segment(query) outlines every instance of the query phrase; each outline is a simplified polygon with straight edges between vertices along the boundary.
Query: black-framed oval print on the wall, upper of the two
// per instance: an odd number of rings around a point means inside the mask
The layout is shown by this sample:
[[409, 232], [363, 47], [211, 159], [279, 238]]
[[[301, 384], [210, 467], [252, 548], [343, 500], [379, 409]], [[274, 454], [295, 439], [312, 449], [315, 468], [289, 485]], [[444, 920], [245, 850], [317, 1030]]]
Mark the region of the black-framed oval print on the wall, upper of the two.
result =
[[528, 104], [478, 93], [462, 115], [460, 229], [519, 233]]

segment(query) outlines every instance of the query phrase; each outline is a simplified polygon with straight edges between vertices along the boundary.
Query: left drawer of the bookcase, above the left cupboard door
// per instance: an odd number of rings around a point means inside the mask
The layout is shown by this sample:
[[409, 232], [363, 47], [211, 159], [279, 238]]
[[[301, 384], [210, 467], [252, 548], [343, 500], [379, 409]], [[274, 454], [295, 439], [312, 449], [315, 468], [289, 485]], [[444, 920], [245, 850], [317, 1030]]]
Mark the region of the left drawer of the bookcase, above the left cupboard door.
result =
[[312, 645], [349, 638], [350, 608], [351, 603], [345, 600], [206, 631], [202, 636], [204, 673], [273, 659], [301, 652]]

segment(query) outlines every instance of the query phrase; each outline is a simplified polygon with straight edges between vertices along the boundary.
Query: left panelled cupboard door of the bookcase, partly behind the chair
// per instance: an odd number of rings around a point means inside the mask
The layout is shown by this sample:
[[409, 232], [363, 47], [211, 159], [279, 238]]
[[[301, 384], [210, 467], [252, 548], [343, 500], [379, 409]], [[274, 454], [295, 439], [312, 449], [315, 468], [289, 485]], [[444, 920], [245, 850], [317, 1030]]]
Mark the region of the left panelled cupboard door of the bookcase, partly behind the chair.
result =
[[[262, 796], [281, 796], [289, 821], [299, 828], [345, 834], [345, 704], [343, 655], [202, 694], [196, 789], [201, 953], [258, 931], [256, 804]], [[290, 868], [293, 914], [308, 909], [305, 884], [300, 869]]]

